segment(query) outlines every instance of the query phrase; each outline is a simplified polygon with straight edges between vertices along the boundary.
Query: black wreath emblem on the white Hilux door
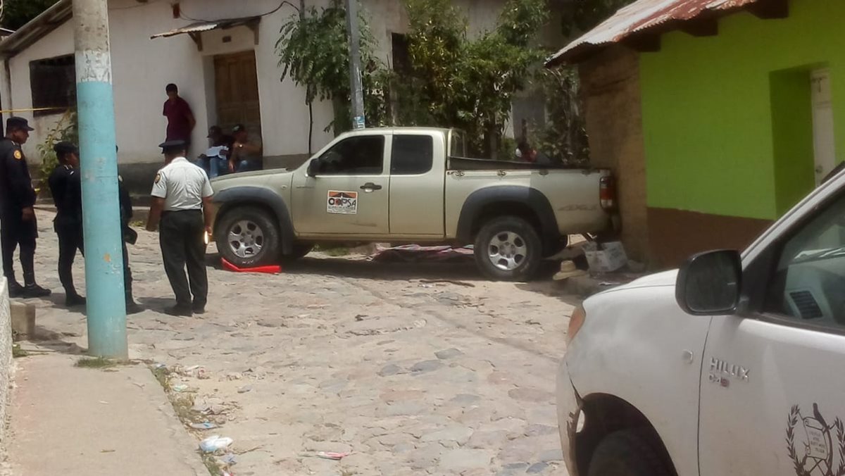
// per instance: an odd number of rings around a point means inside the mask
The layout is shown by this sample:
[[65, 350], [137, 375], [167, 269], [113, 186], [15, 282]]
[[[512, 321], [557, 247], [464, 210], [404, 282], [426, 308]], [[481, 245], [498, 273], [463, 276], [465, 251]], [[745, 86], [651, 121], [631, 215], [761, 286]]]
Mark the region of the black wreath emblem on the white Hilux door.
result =
[[818, 403], [807, 415], [795, 405], [787, 419], [787, 451], [798, 476], [845, 476], [845, 424], [839, 417], [827, 424]]

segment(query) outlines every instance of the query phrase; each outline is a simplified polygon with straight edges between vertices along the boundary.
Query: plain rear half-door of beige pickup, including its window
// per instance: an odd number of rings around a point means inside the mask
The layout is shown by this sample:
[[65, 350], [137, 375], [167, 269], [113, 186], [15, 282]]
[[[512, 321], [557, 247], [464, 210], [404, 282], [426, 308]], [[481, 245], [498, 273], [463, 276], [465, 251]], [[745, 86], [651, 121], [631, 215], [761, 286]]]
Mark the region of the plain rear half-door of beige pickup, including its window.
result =
[[442, 134], [393, 134], [390, 234], [444, 236], [446, 145]]

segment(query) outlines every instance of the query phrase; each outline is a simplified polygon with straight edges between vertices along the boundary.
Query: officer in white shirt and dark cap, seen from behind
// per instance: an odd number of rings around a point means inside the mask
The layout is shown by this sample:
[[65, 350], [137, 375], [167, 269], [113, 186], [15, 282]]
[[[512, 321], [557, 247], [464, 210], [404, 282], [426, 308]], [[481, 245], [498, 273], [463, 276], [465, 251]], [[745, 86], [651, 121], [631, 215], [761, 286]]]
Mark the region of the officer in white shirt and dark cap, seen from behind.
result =
[[166, 165], [155, 175], [147, 230], [155, 231], [156, 225], [159, 227], [164, 269], [176, 294], [176, 305], [165, 312], [183, 316], [203, 314], [208, 300], [205, 238], [211, 235], [214, 191], [205, 171], [185, 158], [187, 147], [183, 140], [167, 141], [159, 147]]

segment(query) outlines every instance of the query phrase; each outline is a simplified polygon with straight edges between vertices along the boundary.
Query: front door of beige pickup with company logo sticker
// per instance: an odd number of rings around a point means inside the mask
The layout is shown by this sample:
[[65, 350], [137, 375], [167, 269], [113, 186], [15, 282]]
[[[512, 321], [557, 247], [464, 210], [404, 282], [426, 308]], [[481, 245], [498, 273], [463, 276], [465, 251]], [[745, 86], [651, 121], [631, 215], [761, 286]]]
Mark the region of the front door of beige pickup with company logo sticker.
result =
[[315, 177], [293, 178], [297, 233], [374, 236], [388, 233], [390, 135], [354, 135], [319, 157]]

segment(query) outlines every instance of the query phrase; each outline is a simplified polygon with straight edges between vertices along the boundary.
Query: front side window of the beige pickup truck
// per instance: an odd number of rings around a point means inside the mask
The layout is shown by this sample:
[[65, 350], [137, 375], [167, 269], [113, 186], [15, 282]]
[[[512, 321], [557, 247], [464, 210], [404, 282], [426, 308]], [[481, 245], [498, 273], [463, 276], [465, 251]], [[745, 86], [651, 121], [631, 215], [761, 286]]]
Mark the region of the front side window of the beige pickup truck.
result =
[[341, 140], [319, 158], [320, 175], [379, 175], [383, 167], [383, 135]]

